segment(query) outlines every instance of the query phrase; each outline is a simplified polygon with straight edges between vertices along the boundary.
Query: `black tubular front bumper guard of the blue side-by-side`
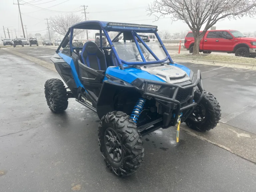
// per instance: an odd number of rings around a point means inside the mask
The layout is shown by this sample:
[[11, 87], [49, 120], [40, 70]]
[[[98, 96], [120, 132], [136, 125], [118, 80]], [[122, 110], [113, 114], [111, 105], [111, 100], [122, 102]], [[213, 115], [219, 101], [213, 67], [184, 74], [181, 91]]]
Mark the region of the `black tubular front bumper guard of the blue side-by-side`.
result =
[[[189, 108], [193, 109], [201, 101], [201, 99], [203, 97], [203, 84], [202, 84], [201, 71], [200, 70], [197, 71], [197, 79], [195, 80], [195, 82], [191, 85], [187, 85], [187, 86], [184, 86], [184, 87], [182, 87], [180, 85], [177, 85], [177, 84], [157, 82], [157, 81], [146, 80], [146, 79], [144, 80], [144, 84], [145, 85], [144, 85], [144, 89], [143, 89], [143, 95], [153, 97], [153, 98], [156, 98], [156, 99], [160, 99], [162, 101], [172, 102], [172, 103], [177, 104], [177, 107], [174, 111], [175, 117], [173, 119], [172, 126], [176, 125], [179, 114], [180, 114], [180, 111], [183, 111], [183, 110], [186, 110], [186, 109], [189, 109]], [[169, 98], [169, 97], [157, 94], [157, 93], [153, 93], [153, 92], [148, 92], [148, 90], [147, 90], [148, 84], [162, 85], [162, 86], [170, 87], [170, 89], [174, 88], [175, 90], [174, 90], [172, 98]], [[181, 108], [181, 103], [178, 100], [176, 100], [176, 96], [178, 94], [179, 89], [183, 89], [183, 90], [184, 89], [191, 89], [192, 87], [196, 87], [196, 86], [198, 87], [198, 89], [201, 92], [201, 95], [200, 95], [199, 99], [196, 102], [193, 102], [193, 103], [188, 104], [188, 105]], [[163, 126], [167, 127], [169, 125], [170, 121], [172, 120], [171, 119], [172, 116], [173, 116], [172, 112], [163, 116]]]

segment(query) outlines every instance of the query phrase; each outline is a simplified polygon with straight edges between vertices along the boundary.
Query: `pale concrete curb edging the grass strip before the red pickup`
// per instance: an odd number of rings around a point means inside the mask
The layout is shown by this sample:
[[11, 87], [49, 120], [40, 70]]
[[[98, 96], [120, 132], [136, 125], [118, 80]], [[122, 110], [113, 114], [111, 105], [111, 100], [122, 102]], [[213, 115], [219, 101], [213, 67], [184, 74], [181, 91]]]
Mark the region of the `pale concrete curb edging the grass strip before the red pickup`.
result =
[[213, 61], [213, 60], [206, 60], [206, 59], [192, 59], [192, 58], [182, 58], [182, 57], [172, 57], [172, 59], [175, 62], [191, 62], [191, 63], [205, 64], [205, 65], [219, 65], [219, 66], [256, 70], [256, 65], [247, 64], [247, 63], [234, 63], [234, 62], [226, 62], [226, 61]]

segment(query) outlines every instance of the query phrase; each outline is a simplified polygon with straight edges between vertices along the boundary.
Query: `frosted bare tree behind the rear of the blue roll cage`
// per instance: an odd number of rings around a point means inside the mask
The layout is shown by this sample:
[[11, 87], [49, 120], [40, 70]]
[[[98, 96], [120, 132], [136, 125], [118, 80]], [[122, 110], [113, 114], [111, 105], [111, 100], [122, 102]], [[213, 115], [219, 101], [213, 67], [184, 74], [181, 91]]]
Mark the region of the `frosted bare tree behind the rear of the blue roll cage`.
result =
[[[66, 15], [58, 15], [56, 17], [51, 17], [49, 27], [51, 31], [54, 31], [60, 35], [65, 36], [69, 27], [82, 21], [83, 19], [81, 16], [76, 15], [74, 13], [69, 13]], [[80, 29], [74, 30], [73, 38], [76, 35], [83, 33], [84, 31], [85, 30]]]

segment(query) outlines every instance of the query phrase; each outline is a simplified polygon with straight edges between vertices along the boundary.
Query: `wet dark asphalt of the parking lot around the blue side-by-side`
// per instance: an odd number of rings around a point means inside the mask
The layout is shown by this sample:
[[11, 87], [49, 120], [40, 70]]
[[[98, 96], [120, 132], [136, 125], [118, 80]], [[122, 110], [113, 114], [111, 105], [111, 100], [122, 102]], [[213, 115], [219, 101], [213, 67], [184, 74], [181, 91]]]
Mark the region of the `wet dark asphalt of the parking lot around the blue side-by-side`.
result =
[[[15, 51], [49, 62], [55, 50]], [[184, 65], [201, 70], [223, 122], [256, 133], [255, 71]], [[60, 76], [0, 51], [0, 191], [255, 191], [254, 163], [183, 131], [177, 145], [175, 128], [144, 137], [142, 167], [131, 177], [116, 177], [99, 151], [97, 115], [74, 99], [62, 114], [48, 109], [43, 89], [50, 78]]]

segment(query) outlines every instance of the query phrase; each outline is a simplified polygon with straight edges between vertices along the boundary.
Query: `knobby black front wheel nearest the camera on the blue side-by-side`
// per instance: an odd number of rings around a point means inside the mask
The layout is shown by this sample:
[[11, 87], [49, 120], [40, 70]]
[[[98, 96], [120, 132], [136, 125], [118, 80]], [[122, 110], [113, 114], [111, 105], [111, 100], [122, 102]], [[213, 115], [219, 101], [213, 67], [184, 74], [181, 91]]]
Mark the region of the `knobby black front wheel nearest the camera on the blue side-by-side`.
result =
[[144, 157], [143, 141], [130, 116], [113, 111], [101, 118], [99, 145], [105, 163], [118, 176], [136, 172]]

